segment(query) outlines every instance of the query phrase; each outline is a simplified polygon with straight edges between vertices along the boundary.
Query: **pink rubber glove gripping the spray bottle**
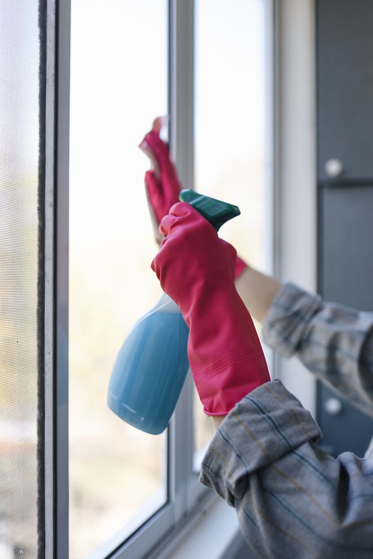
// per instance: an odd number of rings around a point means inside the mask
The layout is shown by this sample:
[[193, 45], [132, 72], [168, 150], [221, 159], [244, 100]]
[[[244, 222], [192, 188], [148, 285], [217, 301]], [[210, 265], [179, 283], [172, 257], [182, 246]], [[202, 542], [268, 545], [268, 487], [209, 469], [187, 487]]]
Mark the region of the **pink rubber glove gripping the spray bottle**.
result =
[[188, 358], [205, 413], [226, 415], [270, 380], [253, 321], [234, 286], [235, 249], [186, 202], [172, 206], [159, 230], [167, 236], [152, 268], [190, 329]]

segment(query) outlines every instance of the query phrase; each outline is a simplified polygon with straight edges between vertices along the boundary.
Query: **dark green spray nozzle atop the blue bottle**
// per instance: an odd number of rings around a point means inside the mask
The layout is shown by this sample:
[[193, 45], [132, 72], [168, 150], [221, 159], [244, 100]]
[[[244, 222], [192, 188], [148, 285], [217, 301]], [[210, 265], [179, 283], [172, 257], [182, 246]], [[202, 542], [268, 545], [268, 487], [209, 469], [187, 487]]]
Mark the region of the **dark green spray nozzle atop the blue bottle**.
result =
[[216, 231], [219, 231], [221, 225], [226, 221], [240, 215], [239, 208], [228, 202], [221, 202], [215, 198], [209, 198], [197, 193], [195, 190], [182, 190], [179, 195], [182, 202], [188, 202], [200, 214], [207, 219]]

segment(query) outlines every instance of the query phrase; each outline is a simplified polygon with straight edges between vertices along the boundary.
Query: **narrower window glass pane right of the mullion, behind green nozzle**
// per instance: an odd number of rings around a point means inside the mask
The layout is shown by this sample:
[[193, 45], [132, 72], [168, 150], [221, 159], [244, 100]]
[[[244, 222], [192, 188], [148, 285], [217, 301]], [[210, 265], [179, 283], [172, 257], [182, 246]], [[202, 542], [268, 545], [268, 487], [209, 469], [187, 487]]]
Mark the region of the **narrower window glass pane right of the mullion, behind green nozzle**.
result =
[[[237, 205], [219, 235], [264, 264], [263, 0], [196, 0], [195, 188]], [[196, 449], [213, 432], [196, 394]]]

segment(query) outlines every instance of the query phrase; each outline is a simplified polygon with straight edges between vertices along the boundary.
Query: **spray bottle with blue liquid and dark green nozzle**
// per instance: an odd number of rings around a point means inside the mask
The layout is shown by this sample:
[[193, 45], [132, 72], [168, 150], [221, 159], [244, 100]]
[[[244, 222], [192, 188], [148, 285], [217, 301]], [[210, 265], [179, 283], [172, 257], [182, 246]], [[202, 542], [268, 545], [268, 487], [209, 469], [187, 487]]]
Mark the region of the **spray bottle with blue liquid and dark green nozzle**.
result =
[[[182, 190], [180, 200], [195, 207], [216, 231], [240, 214], [237, 206], [193, 190]], [[189, 369], [188, 334], [178, 306], [166, 293], [134, 325], [116, 358], [107, 397], [109, 408], [126, 423], [152, 434], [166, 429]]]

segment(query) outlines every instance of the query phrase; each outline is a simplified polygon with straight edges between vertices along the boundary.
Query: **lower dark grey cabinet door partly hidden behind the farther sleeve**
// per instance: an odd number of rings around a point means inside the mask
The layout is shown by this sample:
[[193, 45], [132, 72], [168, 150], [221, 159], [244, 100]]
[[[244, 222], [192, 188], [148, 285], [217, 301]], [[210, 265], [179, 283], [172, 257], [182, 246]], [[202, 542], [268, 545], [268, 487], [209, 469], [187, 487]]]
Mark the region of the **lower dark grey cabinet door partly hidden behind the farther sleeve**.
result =
[[[373, 311], [373, 181], [371, 186], [322, 184], [319, 228], [324, 300]], [[362, 456], [373, 435], [372, 418], [322, 385], [318, 421], [323, 446], [336, 456], [347, 450]]]

